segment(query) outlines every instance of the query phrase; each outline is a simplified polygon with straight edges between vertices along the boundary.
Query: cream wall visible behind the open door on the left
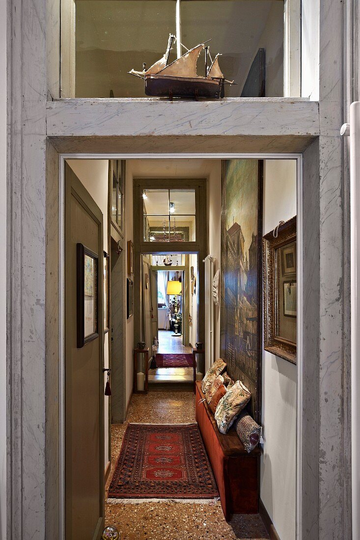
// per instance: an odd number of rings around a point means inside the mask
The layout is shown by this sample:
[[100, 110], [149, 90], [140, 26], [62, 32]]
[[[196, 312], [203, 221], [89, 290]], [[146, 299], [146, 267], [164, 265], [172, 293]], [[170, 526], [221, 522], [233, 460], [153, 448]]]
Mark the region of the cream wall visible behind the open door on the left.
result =
[[[108, 184], [109, 161], [107, 159], [68, 159], [68, 164], [103, 213], [104, 251], [108, 246]], [[104, 367], [109, 367], [109, 332], [105, 334]], [[106, 374], [104, 375], [104, 389]], [[105, 467], [109, 462], [109, 397], [104, 401]]]

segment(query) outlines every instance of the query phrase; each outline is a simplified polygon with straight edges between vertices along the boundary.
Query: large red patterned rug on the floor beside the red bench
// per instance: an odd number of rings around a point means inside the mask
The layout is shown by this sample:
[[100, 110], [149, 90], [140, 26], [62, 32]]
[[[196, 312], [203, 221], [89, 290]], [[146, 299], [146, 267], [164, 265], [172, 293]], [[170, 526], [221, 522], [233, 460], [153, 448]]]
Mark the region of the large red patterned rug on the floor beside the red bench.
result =
[[197, 424], [129, 424], [108, 497], [218, 497], [215, 478]]

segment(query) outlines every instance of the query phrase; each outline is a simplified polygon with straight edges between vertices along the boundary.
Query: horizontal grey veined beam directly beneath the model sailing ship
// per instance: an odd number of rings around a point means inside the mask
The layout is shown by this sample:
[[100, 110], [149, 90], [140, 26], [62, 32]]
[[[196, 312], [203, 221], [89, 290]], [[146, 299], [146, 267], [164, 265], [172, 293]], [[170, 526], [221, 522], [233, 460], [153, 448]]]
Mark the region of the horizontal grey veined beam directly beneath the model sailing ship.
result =
[[319, 135], [318, 103], [301, 98], [58, 99], [46, 122], [48, 137]]

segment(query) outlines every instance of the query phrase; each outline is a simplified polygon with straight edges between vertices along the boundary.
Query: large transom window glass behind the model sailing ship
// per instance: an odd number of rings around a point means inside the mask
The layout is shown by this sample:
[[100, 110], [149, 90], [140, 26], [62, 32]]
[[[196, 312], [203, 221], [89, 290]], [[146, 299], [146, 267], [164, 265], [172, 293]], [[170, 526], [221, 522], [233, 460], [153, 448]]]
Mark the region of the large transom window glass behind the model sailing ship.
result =
[[144, 81], [129, 71], [161, 59], [170, 34], [168, 64], [204, 42], [206, 65], [221, 53], [219, 67], [236, 83], [225, 97], [284, 95], [283, 0], [64, 0], [62, 28], [63, 97], [145, 97]]

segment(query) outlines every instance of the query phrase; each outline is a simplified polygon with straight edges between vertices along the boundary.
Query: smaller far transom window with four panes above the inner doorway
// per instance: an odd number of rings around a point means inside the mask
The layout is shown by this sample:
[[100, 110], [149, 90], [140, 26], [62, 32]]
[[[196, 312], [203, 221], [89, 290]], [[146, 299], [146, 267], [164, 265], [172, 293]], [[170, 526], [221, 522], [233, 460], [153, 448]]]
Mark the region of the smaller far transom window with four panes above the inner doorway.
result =
[[145, 242], [196, 239], [195, 190], [143, 190]]

